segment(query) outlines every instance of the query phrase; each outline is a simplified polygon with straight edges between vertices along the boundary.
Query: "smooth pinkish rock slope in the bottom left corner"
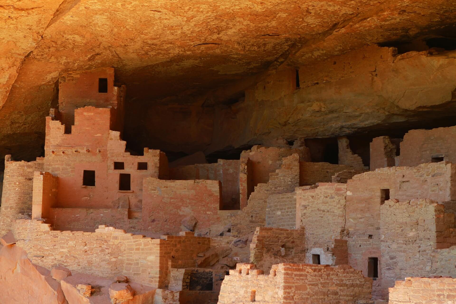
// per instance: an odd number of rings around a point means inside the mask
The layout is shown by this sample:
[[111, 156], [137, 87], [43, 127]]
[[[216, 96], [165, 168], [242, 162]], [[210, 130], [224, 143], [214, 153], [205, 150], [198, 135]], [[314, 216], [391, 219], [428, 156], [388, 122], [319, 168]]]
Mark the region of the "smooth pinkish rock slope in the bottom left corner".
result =
[[33, 265], [27, 252], [15, 244], [1, 247], [0, 274], [0, 303], [67, 303], [50, 271]]

